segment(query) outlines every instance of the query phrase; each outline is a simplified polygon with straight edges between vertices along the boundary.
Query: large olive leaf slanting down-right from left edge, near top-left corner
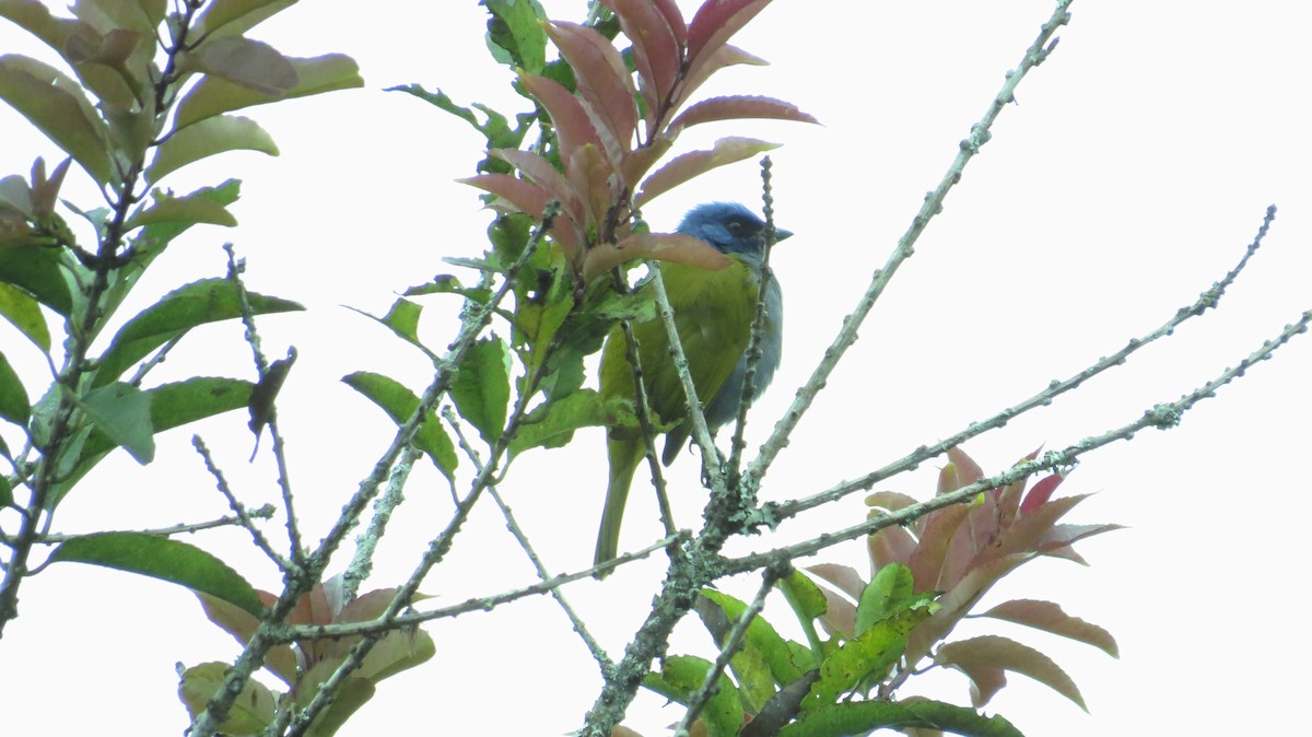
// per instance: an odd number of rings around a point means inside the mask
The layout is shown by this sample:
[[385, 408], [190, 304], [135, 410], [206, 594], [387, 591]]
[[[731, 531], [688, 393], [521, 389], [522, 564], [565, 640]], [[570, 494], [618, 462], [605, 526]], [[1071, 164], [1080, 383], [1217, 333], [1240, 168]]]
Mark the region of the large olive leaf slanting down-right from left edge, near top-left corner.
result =
[[31, 121], [97, 184], [113, 177], [108, 129], [76, 81], [35, 59], [8, 54], [0, 56], [0, 100]]

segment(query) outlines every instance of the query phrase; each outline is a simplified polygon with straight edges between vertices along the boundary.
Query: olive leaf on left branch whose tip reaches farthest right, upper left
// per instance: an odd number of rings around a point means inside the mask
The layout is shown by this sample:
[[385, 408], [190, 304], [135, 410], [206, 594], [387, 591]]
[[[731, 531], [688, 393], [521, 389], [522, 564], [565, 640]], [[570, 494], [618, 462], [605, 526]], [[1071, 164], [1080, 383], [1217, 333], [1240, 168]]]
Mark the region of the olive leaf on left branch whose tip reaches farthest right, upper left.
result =
[[201, 79], [178, 102], [173, 129], [182, 130], [192, 123], [223, 113], [277, 102], [278, 100], [365, 87], [365, 80], [359, 76], [359, 66], [344, 54], [324, 54], [307, 59], [286, 56], [286, 60], [297, 73], [297, 84], [281, 94], [257, 92], [215, 76]]

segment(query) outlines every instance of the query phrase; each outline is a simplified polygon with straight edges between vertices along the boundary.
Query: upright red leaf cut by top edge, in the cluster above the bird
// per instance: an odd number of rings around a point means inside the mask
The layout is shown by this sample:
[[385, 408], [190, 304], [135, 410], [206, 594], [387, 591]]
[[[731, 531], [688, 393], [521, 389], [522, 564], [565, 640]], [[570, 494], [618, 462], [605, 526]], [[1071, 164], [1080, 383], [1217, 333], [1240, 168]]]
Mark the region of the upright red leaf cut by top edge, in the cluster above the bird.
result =
[[656, 132], [655, 115], [664, 110], [684, 63], [684, 17], [669, 0], [606, 0], [606, 4], [634, 45], [638, 88], [647, 104], [647, 134], [651, 136]]

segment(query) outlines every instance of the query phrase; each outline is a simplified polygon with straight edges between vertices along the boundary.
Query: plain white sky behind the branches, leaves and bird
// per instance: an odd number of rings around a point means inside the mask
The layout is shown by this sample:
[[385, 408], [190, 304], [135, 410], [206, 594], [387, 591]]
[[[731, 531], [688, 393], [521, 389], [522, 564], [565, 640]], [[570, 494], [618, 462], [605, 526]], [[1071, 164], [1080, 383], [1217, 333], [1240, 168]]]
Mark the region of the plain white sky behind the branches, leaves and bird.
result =
[[[579, 20], [583, 1], [547, 3]], [[690, 17], [693, 3], [681, 3]], [[1047, 0], [1014, 3], [789, 3], [766, 9], [735, 43], [769, 59], [728, 71], [706, 94], [770, 94], [798, 104], [824, 127], [747, 122], [690, 130], [682, 148], [720, 135], [782, 142], [774, 153], [777, 216], [798, 235], [774, 254], [786, 294], [787, 353], [758, 404], [760, 442], [851, 311], [932, 189], [1018, 63]], [[366, 9], [367, 8], [367, 9]], [[875, 308], [848, 361], [768, 477], [785, 500], [828, 488], [949, 435], [1068, 376], [1165, 321], [1241, 256], [1263, 209], [1281, 207], [1265, 248], [1221, 302], [1177, 334], [1094, 380], [1078, 396], [1027, 416], [966, 450], [998, 471], [1043, 445], [1061, 447], [1138, 417], [1210, 379], [1312, 307], [1312, 129], [1307, 72], [1312, 10], [1295, 3], [1187, 5], [1077, 1], [1051, 59], [1026, 79], [968, 167], [942, 216], [921, 239]], [[178, 191], [244, 180], [235, 231], [198, 228], [173, 245], [138, 289], [140, 309], [178, 283], [223, 273], [226, 240], [249, 261], [252, 289], [298, 299], [307, 313], [262, 323], [265, 348], [291, 342], [300, 359], [279, 399], [303, 523], [316, 540], [390, 438], [390, 422], [337, 379], [383, 371], [421, 387], [425, 362], [342, 304], [375, 313], [394, 292], [449, 271], [443, 256], [484, 248], [488, 215], [454, 178], [471, 173], [480, 139], [394, 84], [441, 87], [459, 102], [517, 110], [508, 73], [483, 49], [475, 3], [306, 3], [252, 34], [290, 55], [341, 51], [359, 60], [366, 88], [248, 111], [282, 156], [231, 153], [171, 177]], [[0, 52], [45, 55], [0, 25]], [[35, 153], [59, 159], [16, 113], [0, 109], [0, 174], [26, 172]], [[89, 203], [85, 177], [66, 195]], [[646, 215], [672, 227], [707, 199], [758, 202], [745, 163], [661, 198]], [[432, 346], [453, 334], [451, 299], [425, 302]], [[192, 374], [252, 378], [232, 325], [198, 330], [155, 380]], [[41, 363], [14, 330], [0, 346], [34, 396]], [[1273, 723], [1309, 686], [1312, 645], [1296, 605], [1308, 552], [1300, 519], [1312, 511], [1302, 472], [1312, 400], [1312, 346], [1303, 337], [1274, 362], [1224, 388], [1170, 433], [1145, 433], [1084, 462], [1063, 489], [1099, 492], [1068, 522], [1131, 528], [1078, 547], [1093, 564], [1034, 563], [989, 601], [1046, 598], [1109, 628], [1119, 661], [1077, 644], [989, 626], [1051, 654], [1082, 688], [1092, 715], [1025, 677], [989, 709], [1027, 734], [1237, 734], [1242, 721]], [[252, 505], [273, 501], [268, 454], [248, 466], [245, 417], [228, 414], [159, 438], [159, 460], [138, 467], [115, 454], [59, 509], [55, 528], [92, 531], [199, 521], [224, 505], [190, 451], [199, 431], [230, 481]], [[10, 433], [5, 433], [12, 438]], [[14, 447], [14, 442], [10, 442]], [[752, 446], [756, 447], [754, 445]], [[605, 487], [600, 431], [564, 451], [516, 463], [504, 492], [555, 570], [584, 567]], [[935, 466], [937, 468], [937, 466]], [[935, 468], [880, 488], [928, 496]], [[695, 481], [690, 454], [676, 479]], [[681, 476], [682, 475], [682, 476]], [[635, 502], [646, 502], [635, 489]], [[380, 551], [374, 584], [404, 578], [446, 521], [449, 494], [436, 473], [416, 477], [395, 538]], [[676, 498], [686, 525], [701, 497]], [[649, 504], [649, 502], [646, 502]], [[865, 514], [859, 498], [783, 527], [764, 549]], [[623, 546], [657, 534], [636, 504]], [[257, 586], [270, 565], [237, 532], [190, 542], [218, 551]], [[345, 556], [342, 557], [345, 560]], [[816, 559], [863, 568], [859, 546]], [[568, 589], [602, 644], [618, 657], [646, 611], [659, 563], [605, 584]], [[449, 565], [422, 590], [453, 603], [527, 584], [533, 574], [493, 508], [463, 532]], [[726, 585], [749, 597], [754, 581]], [[766, 615], [791, 615], [771, 602]], [[428, 631], [437, 657], [384, 682], [344, 736], [408, 733], [562, 734], [577, 728], [600, 685], [581, 641], [548, 599], [533, 599]], [[173, 664], [232, 658], [190, 594], [127, 574], [52, 567], [22, 589], [21, 616], [0, 641], [0, 692], [13, 733], [130, 730], [180, 733], [185, 712]], [[710, 656], [695, 622], [672, 652]], [[967, 702], [955, 674], [918, 691]], [[1225, 723], [1214, 708], [1224, 699]], [[1295, 702], [1296, 703], [1296, 702]], [[1258, 716], [1260, 715], [1260, 716]], [[631, 724], [661, 734], [677, 719], [639, 698]], [[491, 725], [491, 727], [489, 727]]]

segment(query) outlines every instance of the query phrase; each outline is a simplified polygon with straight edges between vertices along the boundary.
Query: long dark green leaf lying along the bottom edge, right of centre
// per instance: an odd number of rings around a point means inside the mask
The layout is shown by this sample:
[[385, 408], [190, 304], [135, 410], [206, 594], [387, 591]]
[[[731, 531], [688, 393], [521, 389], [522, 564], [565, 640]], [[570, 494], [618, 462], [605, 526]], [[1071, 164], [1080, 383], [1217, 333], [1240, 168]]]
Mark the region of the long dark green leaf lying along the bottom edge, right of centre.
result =
[[971, 737], [1023, 737], [1001, 716], [983, 716], [975, 709], [942, 702], [853, 702], [832, 704], [802, 715], [779, 730], [779, 737], [846, 737], [880, 728], [918, 727]]

